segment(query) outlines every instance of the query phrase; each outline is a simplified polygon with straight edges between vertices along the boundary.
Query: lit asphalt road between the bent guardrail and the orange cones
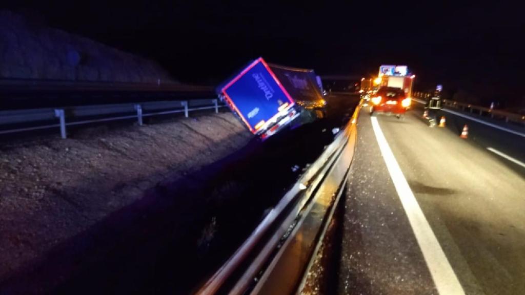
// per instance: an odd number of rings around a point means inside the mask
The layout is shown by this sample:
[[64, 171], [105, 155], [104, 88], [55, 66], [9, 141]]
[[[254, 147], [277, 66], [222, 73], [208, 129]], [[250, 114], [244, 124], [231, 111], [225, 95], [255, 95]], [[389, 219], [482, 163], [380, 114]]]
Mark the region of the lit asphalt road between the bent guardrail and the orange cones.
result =
[[421, 114], [361, 111], [338, 293], [525, 294], [525, 167]]

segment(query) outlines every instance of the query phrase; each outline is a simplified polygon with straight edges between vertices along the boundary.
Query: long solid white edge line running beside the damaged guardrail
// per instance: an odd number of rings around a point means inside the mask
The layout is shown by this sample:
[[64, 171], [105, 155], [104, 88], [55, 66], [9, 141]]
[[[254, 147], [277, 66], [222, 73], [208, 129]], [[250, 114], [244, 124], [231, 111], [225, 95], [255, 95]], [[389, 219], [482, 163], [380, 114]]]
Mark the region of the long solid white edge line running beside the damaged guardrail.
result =
[[377, 118], [371, 117], [371, 120], [375, 138], [385, 160], [386, 168], [394, 182], [395, 189], [408, 217], [408, 222], [414, 231], [419, 248], [421, 248], [423, 252], [423, 257], [425, 258], [438, 293], [442, 295], [464, 295], [465, 291], [463, 287], [461, 287], [456, 273], [450, 266], [445, 252], [443, 252], [443, 249], [439, 245], [434, 231], [430, 228], [421, 207], [419, 207], [399, 164], [397, 164], [383, 131], [381, 131], [379, 122], [377, 122]]

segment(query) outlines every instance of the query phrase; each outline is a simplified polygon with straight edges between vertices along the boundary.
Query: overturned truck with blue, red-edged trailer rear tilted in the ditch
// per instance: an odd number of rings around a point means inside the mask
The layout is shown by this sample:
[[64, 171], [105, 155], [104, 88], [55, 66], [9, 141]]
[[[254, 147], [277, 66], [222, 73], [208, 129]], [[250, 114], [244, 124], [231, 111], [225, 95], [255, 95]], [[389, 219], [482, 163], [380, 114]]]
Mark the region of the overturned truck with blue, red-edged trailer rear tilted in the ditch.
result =
[[217, 92], [262, 139], [324, 115], [325, 101], [313, 70], [268, 65], [262, 58], [251, 61]]

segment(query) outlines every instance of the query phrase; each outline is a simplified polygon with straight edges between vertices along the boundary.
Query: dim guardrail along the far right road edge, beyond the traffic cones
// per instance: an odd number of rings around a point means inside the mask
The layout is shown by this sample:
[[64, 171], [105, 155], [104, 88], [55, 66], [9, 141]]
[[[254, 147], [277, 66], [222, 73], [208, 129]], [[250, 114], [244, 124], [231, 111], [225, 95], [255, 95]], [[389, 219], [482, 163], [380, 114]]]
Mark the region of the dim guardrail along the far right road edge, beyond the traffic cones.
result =
[[[415, 97], [427, 99], [430, 97], [430, 94], [428, 93], [422, 93], [422, 92], [415, 92]], [[487, 115], [490, 118], [501, 118], [505, 120], [505, 122], [514, 122], [521, 125], [525, 125], [525, 115], [517, 114], [517, 113], [511, 113], [501, 110], [494, 110], [486, 107], [480, 107], [480, 106], [474, 106], [470, 103], [464, 103], [464, 102], [458, 102], [454, 100], [443, 100], [443, 104], [445, 107], [449, 108], [455, 108], [459, 109], [464, 112], [470, 112], [470, 113], [477, 113], [481, 116]]]

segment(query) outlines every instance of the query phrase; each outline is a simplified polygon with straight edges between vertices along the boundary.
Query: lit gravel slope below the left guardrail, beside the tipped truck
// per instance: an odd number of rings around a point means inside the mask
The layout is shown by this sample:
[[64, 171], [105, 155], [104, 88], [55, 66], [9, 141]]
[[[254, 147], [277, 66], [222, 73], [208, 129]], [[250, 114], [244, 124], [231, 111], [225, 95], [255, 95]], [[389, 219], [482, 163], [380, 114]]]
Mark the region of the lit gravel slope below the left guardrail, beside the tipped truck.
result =
[[252, 138], [231, 113], [71, 135], [0, 143], [0, 281], [156, 184], [197, 171]]

